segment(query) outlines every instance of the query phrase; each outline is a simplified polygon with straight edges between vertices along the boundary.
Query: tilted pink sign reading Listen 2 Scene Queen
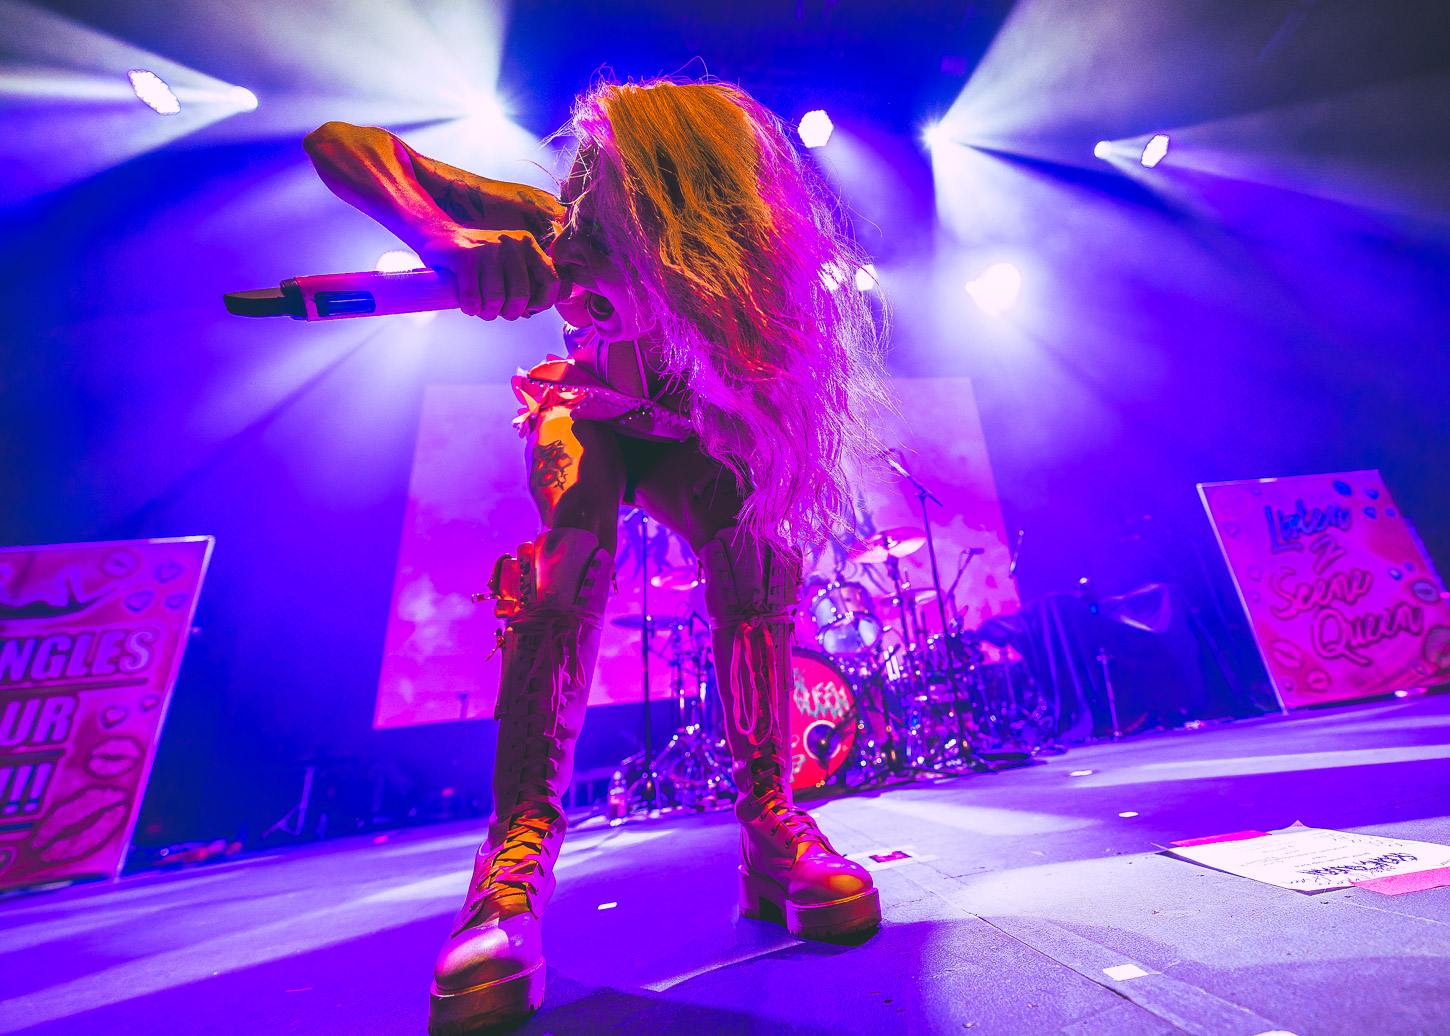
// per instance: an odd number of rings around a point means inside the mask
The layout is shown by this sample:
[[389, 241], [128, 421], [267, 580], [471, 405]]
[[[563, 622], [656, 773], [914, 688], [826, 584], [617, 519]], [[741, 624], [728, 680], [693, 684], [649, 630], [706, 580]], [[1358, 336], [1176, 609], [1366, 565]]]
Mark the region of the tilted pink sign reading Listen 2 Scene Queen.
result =
[[1379, 472], [1198, 490], [1283, 708], [1450, 679], [1450, 595]]

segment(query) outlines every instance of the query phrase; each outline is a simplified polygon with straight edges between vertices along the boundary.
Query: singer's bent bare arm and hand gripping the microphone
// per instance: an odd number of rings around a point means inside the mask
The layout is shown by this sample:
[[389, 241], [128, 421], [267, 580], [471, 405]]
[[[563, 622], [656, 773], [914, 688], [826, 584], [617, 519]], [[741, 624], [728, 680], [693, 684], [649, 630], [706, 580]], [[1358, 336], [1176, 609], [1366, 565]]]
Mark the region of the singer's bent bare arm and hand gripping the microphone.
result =
[[544, 247], [564, 206], [552, 194], [426, 158], [386, 129], [329, 122], [303, 147], [334, 194], [458, 277], [465, 313], [515, 319], [554, 305]]

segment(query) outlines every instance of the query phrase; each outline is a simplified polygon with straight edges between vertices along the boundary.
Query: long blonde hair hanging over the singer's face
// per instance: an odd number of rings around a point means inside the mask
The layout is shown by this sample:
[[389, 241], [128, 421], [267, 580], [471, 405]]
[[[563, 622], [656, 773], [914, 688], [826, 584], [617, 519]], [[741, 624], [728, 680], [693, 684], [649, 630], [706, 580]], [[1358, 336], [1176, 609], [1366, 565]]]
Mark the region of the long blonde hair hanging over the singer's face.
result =
[[568, 126], [635, 302], [660, 318], [705, 453], [741, 524], [789, 554], [850, 525], [880, 448], [882, 332], [864, 257], [786, 129], [724, 83], [603, 83]]

